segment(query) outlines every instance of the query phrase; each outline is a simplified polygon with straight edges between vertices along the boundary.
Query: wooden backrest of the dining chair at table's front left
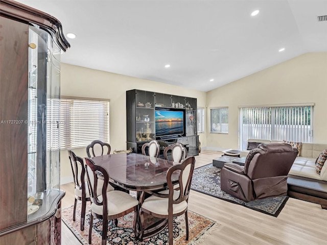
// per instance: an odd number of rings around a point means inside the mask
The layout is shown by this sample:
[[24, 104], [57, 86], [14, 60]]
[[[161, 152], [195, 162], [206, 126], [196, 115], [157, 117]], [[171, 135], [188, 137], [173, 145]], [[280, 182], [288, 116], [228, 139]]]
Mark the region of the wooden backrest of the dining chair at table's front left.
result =
[[[85, 167], [89, 167], [91, 170], [86, 171], [87, 182], [90, 187], [91, 201], [98, 206], [107, 207], [107, 187], [109, 182], [108, 172], [103, 167], [95, 165], [94, 161], [88, 157], [85, 157], [85, 163]], [[102, 176], [99, 175], [99, 172]], [[90, 178], [90, 174], [92, 174], [93, 178]], [[101, 194], [98, 191], [99, 185], [102, 185]], [[106, 208], [104, 209], [104, 212], [107, 212]]]

